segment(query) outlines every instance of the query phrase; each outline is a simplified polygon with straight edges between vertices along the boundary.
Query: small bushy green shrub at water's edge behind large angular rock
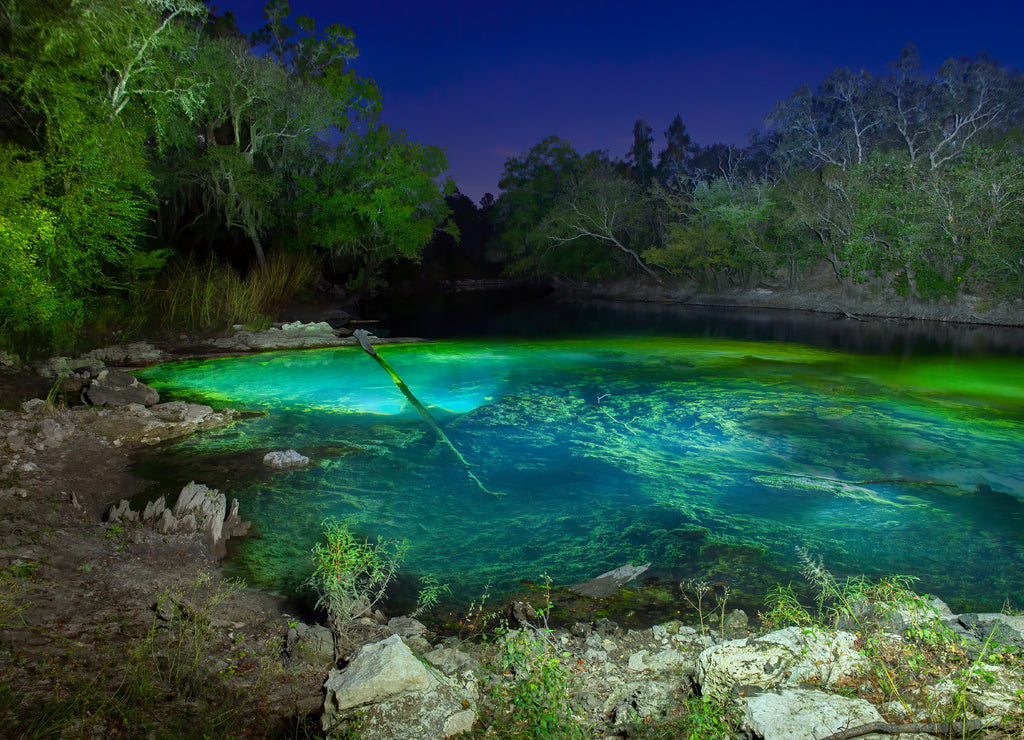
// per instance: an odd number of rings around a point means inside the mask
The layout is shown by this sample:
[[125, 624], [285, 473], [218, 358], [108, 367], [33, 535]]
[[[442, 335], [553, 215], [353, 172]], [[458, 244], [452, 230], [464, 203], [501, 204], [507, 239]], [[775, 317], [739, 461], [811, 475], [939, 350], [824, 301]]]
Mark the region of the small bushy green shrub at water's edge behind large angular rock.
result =
[[342, 635], [384, 598], [409, 546], [359, 539], [351, 521], [324, 522], [324, 536], [312, 550], [307, 586], [317, 595], [316, 607], [327, 610], [332, 630]]

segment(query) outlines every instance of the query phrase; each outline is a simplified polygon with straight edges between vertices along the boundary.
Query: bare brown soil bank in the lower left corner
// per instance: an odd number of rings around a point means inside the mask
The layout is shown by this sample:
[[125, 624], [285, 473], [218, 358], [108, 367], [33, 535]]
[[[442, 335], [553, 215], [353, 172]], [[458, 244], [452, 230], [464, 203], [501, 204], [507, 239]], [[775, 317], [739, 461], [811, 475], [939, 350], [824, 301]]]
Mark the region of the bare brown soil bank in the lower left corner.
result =
[[48, 387], [0, 374], [0, 735], [297, 734], [329, 666], [284, 657], [287, 605], [225, 583], [198, 535], [105, 523], [147, 482], [127, 446], [26, 432], [10, 409]]

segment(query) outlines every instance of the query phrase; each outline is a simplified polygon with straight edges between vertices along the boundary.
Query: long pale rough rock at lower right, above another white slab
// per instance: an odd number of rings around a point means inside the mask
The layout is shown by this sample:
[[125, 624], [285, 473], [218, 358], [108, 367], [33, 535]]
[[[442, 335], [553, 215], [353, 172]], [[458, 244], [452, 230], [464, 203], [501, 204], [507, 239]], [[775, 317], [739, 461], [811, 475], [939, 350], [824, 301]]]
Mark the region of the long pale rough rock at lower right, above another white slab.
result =
[[705, 696], [724, 700], [734, 686], [769, 689], [820, 679], [839, 683], [866, 663], [854, 650], [856, 636], [786, 627], [759, 638], [730, 640], [700, 653], [696, 679]]

